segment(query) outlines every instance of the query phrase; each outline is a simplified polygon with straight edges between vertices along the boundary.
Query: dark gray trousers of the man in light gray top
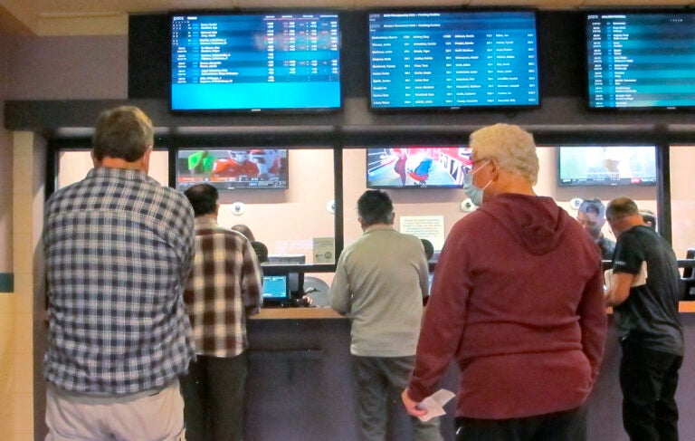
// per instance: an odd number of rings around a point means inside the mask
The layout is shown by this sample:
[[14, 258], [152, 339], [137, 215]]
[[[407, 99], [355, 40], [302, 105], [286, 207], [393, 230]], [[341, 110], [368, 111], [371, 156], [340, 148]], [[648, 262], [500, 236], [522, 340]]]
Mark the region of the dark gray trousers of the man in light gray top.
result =
[[[352, 356], [352, 368], [357, 381], [359, 421], [363, 441], [384, 441], [388, 426], [389, 397], [397, 399], [397, 406], [405, 414], [400, 402], [401, 392], [408, 385], [413, 369], [413, 357], [357, 357]], [[424, 423], [410, 417], [415, 441], [440, 441], [439, 418]]]

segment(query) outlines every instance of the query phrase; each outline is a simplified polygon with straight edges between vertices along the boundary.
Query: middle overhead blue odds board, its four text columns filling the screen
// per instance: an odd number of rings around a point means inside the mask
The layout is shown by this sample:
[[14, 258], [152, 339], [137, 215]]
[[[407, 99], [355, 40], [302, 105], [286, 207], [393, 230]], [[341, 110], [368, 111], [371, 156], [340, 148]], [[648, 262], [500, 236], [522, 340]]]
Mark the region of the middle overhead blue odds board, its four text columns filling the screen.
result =
[[534, 11], [369, 14], [374, 110], [538, 107]]

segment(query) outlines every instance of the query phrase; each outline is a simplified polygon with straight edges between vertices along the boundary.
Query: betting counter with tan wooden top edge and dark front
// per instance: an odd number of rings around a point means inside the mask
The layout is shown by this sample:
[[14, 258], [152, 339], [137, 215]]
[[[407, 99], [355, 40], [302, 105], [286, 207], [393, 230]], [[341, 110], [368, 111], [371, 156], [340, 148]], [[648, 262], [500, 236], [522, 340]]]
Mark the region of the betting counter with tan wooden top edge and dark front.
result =
[[[695, 302], [681, 302], [686, 358], [677, 399], [683, 412], [695, 394]], [[610, 309], [609, 309], [610, 312]], [[358, 439], [348, 319], [329, 307], [265, 308], [247, 322], [249, 375], [246, 435], [249, 439]], [[605, 357], [588, 400], [587, 439], [626, 439], [622, 427], [618, 372], [620, 344], [608, 315]], [[455, 391], [452, 364], [441, 386]], [[447, 404], [442, 432], [453, 435], [454, 400]], [[393, 397], [391, 406], [401, 406]], [[695, 420], [681, 418], [681, 437], [695, 439]], [[387, 441], [410, 440], [407, 418], [396, 418]], [[292, 436], [297, 436], [292, 438]]]

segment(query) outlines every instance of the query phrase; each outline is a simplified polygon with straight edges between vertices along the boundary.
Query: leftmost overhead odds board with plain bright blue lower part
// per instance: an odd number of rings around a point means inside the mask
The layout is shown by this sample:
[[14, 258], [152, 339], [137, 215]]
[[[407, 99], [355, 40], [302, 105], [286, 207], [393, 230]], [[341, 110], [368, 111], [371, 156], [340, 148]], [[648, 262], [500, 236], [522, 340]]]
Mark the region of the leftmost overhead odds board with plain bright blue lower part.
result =
[[337, 110], [338, 14], [172, 14], [170, 110]]

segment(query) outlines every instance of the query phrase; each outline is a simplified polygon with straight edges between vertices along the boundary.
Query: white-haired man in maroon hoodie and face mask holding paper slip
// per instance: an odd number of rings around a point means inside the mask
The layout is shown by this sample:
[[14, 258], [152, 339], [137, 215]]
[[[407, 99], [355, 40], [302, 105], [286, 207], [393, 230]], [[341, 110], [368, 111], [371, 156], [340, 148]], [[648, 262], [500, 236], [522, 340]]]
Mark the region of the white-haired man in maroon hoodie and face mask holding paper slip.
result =
[[[601, 255], [550, 197], [538, 197], [533, 137], [496, 124], [471, 135], [467, 193], [436, 267], [408, 413], [461, 371], [456, 439], [584, 440], [582, 406], [605, 341]], [[483, 203], [484, 201], [484, 203]]]

